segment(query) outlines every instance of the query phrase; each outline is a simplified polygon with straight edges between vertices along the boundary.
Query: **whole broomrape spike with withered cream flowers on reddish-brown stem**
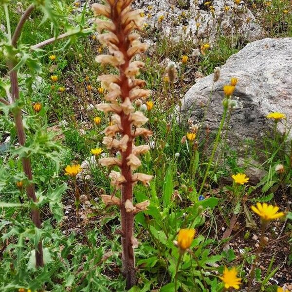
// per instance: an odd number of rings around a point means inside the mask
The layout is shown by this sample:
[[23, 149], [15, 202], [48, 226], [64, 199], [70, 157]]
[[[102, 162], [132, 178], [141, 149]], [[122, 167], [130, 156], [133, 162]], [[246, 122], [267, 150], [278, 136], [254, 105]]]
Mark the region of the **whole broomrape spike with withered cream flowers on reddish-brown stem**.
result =
[[[139, 40], [137, 33], [143, 27], [143, 18], [140, 10], [131, 10], [132, 0], [107, 0], [106, 5], [93, 4], [96, 16], [102, 15], [109, 20], [96, 18], [99, 41], [108, 46], [110, 55], [98, 55], [96, 61], [101, 64], [110, 64], [117, 68], [119, 75], [102, 75], [98, 80], [101, 87], [107, 90], [105, 100], [109, 103], [97, 105], [97, 109], [104, 112], [113, 112], [112, 124], [104, 130], [103, 144], [108, 149], [116, 148], [121, 158], [101, 158], [99, 163], [103, 166], [118, 166], [121, 171], [111, 171], [111, 184], [121, 190], [121, 199], [103, 195], [106, 205], [117, 205], [121, 210], [121, 236], [123, 274], [126, 277], [126, 289], [136, 283], [134, 248], [138, 241], [134, 237], [134, 215], [147, 209], [149, 201], [133, 204], [133, 185], [138, 181], [148, 185], [151, 175], [133, 173], [140, 165], [139, 155], [146, 153], [149, 146], [135, 146], [135, 137], [150, 136], [152, 132], [141, 128], [148, 119], [140, 111], [135, 111], [132, 103], [136, 99], [146, 99], [150, 91], [141, 89], [145, 81], [136, 79], [139, 69], [144, 67], [142, 61], [132, 61], [133, 56], [143, 53], [147, 45]], [[107, 33], [103, 33], [107, 31]], [[120, 138], [118, 138], [120, 137]]]

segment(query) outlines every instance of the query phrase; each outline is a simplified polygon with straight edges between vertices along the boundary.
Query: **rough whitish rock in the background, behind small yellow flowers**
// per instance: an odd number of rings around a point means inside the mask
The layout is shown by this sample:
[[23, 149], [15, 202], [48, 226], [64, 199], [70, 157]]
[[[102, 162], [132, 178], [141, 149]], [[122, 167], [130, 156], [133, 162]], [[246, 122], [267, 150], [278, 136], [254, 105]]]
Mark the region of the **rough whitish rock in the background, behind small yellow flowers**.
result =
[[[237, 5], [233, 0], [214, 0], [213, 14], [207, 6], [203, 5], [202, 0], [190, 0], [190, 7], [183, 7], [187, 9], [177, 7], [173, 3], [175, 1], [136, 0], [134, 7], [145, 10], [145, 21], [148, 25], [159, 28], [166, 36], [171, 35], [171, 38], [176, 40], [182, 37], [189, 38], [193, 42], [203, 40], [212, 46], [216, 35], [218, 37], [218, 31], [235, 38], [240, 35], [241, 42], [263, 37], [263, 29], [243, 1]], [[148, 8], [149, 6], [151, 9]], [[228, 11], [225, 11], [225, 7], [228, 7]], [[160, 16], [164, 16], [161, 25], [158, 24]], [[183, 26], [186, 28], [185, 31]]]

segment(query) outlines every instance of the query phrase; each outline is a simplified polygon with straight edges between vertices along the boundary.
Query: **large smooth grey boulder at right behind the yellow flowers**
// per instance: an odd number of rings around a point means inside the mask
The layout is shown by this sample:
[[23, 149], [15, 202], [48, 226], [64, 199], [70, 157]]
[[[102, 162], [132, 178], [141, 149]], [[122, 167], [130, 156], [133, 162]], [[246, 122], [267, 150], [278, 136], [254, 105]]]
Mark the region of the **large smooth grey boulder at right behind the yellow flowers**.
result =
[[[241, 148], [246, 139], [261, 142], [274, 122], [266, 118], [270, 112], [279, 111], [287, 116], [287, 129], [292, 126], [292, 38], [265, 38], [246, 45], [232, 55], [221, 68], [220, 78], [213, 86], [212, 98], [203, 126], [211, 131], [219, 127], [223, 107], [223, 85], [237, 77], [233, 98], [242, 100], [243, 108], [232, 111], [228, 143]], [[208, 104], [213, 75], [198, 79], [182, 100], [182, 118], [201, 120]], [[179, 108], [177, 109], [179, 110]], [[278, 130], [285, 130], [285, 120], [278, 123]], [[287, 130], [287, 132], [288, 132]], [[290, 131], [292, 138], [292, 131]], [[244, 150], [242, 151], [244, 152]]]

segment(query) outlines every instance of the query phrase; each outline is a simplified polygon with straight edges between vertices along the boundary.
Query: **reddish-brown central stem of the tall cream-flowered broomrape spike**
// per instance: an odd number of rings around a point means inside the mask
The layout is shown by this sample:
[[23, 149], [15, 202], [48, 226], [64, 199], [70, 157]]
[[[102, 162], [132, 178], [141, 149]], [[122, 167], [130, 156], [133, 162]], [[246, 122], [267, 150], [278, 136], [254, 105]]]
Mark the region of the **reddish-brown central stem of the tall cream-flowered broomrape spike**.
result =
[[[121, 26], [121, 19], [116, 9], [112, 9], [111, 20], [115, 24], [116, 36], [119, 39], [119, 50], [123, 53], [125, 63], [120, 66], [120, 86], [121, 86], [121, 99], [125, 101], [129, 96], [129, 82], [125, 71], [129, 66], [130, 57], [127, 54], [129, 48], [128, 37], [125, 36], [124, 28]], [[129, 122], [129, 115], [123, 111], [120, 113], [121, 126], [123, 128], [123, 135], [128, 135], [129, 140], [126, 151], [122, 152], [122, 165], [121, 174], [125, 177], [126, 182], [122, 186], [122, 201], [121, 201], [121, 228], [122, 228], [122, 260], [123, 260], [123, 274], [126, 277], [126, 289], [130, 289], [136, 283], [135, 277], [135, 257], [133, 250], [132, 239], [134, 237], [134, 215], [132, 212], [126, 212], [125, 203], [127, 200], [133, 201], [133, 183], [132, 183], [132, 170], [127, 165], [127, 157], [132, 153], [133, 135], [131, 123]]]

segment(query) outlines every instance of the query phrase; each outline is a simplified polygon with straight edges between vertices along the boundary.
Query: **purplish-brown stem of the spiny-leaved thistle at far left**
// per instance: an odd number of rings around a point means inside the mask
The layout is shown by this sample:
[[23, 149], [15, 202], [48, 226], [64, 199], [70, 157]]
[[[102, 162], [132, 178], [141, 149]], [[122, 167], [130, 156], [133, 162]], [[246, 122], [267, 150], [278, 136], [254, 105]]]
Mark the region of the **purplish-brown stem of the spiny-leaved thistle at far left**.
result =
[[[22, 15], [21, 19], [18, 22], [17, 28], [15, 30], [15, 33], [12, 38], [12, 45], [14, 47], [17, 46], [17, 40], [20, 35], [21, 29], [23, 27], [23, 24], [25, 20], [29, 17], [31, 12], [34, 9], [34, 5], [30, 5], [25, 13]], [[16, 102], [19, 98], [19, 87], [18, 87], [18, 77], [17, 77], [17, 71], [13, 70], [15, 64], [12, 61], [8, 61], [7, 63], [8, 68], [10, 70], [10, 83], [11, 83], [11, 98], [13, 102]], [[15, 126], [17, 130], [17, 135], [18, 135], [18, 142], [21, 146], [25, 145], [25, 132], [24, 132], [24, 127], [22, 123], [22, 115], [21, 115], [21, 110], [16, 107], [13, 110], [13, 117], [15, 121]], [[27, 196], [33, 200], [34, 202], [37, 202], [37, 196], [35, 192], [35, 185], [32, 183], [33, 175], [32, 175], [32, 166], [31, 166], [31, 161], [29, 158], [22, 158], [22, 167], [23, 167], [23, 172], [26, 175], [28, 179], [28, 183], [25, 186], [25, 191], [27, 193]], [[37, 228], [41, 228], [41, 221], [40, 221], [40, 215], [39, 215], [39, 210], [36, 206], [33, 206], [31, 209], [31, 214], [32, 214], [32, 220]], [[36, 253], [36, 267], [42, 267], [44, 265], [44, 260], [43, 260], [43, 249], [42, 249], [42, 242], [41, 240], [37, 244], [37, 249], [35, 251]]]

